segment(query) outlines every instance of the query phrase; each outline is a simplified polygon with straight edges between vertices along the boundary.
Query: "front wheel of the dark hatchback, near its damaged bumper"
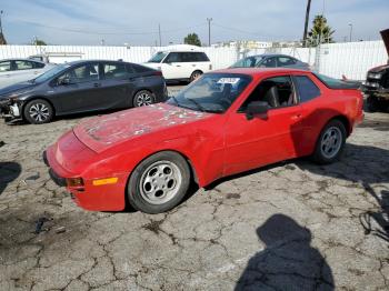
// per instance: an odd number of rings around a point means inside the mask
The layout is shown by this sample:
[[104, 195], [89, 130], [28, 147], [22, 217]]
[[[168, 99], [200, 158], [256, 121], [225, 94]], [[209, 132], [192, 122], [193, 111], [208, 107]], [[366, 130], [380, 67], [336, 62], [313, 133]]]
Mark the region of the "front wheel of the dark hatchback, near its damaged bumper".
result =
[[23, 118], [32, 124], [48, 123], [52, 120], [54, 110], [52, 106], [43, 99], [34, 99], [28, 102], [23, 109]]

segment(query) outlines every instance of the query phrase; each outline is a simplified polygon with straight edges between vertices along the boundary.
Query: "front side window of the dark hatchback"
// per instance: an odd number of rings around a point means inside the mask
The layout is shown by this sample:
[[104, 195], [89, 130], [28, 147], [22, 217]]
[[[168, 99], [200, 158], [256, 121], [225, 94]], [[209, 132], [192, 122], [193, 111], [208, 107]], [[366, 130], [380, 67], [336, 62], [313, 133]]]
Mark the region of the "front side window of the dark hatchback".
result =
[[63, 79], [70, 79], [71, 83], [83, 83], [99, 80], [99, 64], [88, 63], [64, 72], [57, 79], [60, 83]]

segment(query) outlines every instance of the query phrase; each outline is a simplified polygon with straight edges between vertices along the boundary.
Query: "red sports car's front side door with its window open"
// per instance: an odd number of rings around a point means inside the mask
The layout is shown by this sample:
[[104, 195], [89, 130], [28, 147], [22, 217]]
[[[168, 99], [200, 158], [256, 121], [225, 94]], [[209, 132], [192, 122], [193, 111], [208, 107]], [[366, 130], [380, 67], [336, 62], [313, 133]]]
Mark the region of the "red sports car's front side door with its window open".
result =
[[[276, 96], [271, 96], [277, 88]], [[289, 90], [289, 92], [286, 92]], [[289, 104], [283, 103], [287, 93]], [[270, 96], [269, 96], [270, 94]], [[289, 100], [289, 101], [290, 101]], [[268, 102], [268, 112], [248, 119], [245, 112], [251, 101]], [[296, 147], [302, 134], [301, 107], [289, 76], [262, 80], [226, 122], [225, 175], [247, 171], [296, 157]]]

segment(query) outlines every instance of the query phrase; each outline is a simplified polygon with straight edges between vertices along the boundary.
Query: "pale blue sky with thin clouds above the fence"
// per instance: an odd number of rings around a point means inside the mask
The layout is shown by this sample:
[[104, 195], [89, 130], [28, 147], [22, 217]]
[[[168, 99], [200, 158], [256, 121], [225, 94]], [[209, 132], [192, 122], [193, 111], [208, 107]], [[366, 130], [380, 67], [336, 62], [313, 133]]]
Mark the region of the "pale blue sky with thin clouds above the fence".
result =
[[[208, 43], [302, 38], [307, 0], [0, 0], [8, 43], [37, 37], [48, 44], [162, 46], [191, 32]], [[325, 12], [336, 41], [378, 40], [389, 28], [389, 0], [312, 0], [310, 22]]]

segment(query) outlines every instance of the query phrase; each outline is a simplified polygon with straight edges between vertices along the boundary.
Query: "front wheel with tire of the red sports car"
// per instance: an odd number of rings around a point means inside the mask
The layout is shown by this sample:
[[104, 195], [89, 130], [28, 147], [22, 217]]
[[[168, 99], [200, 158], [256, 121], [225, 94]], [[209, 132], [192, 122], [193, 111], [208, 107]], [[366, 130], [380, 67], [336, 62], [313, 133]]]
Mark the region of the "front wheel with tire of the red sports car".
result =
[[[166, 173], [169, 168], [170, 173]], [[178, 172], [180, 178], [177, 178]], [[158, 152], [133, 170], [127, 187], [128, 201], [146, 213], [166, 212], [181, 202], [189, 184], [190, 169], [186, 159], [171, 151]]]

